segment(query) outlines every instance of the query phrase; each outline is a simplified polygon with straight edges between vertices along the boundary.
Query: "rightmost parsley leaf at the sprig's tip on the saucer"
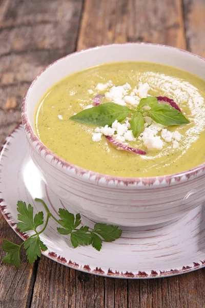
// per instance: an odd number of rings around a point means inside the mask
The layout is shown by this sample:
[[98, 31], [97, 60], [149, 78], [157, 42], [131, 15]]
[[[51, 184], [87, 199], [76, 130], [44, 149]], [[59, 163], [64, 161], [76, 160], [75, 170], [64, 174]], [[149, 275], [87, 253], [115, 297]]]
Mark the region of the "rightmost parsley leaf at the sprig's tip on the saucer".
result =
[[107, 225], [106, 223], [96, 223], [93, 233], [100, 235], [106, 242], [113, 242], [121, 236], [118, 226]]

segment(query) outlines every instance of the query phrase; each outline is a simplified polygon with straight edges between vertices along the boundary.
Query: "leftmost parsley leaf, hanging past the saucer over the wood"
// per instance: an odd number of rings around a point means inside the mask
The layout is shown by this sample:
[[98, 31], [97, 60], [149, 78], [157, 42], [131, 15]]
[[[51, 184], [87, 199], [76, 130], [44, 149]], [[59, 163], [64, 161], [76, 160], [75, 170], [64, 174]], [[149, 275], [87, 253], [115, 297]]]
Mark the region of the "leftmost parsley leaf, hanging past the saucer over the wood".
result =
[[2, 248], [6, 253], [2, 261], [8, 264], [14, 264], [16, 267], [20, 267], [20, 246], [4, 239]]

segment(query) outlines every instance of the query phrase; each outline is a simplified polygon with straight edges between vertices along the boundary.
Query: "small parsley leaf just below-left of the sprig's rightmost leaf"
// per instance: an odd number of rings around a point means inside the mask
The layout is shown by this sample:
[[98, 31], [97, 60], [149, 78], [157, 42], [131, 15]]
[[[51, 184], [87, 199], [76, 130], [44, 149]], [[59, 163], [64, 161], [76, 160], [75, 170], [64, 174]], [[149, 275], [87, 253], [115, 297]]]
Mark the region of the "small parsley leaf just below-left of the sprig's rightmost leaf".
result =
[[90, 245], [92, 243], [92, 234], [89, 232], [89, 227], [82, 226], [76, 231], [71, 232], [71, 243], [74, 248], [78, 245]]

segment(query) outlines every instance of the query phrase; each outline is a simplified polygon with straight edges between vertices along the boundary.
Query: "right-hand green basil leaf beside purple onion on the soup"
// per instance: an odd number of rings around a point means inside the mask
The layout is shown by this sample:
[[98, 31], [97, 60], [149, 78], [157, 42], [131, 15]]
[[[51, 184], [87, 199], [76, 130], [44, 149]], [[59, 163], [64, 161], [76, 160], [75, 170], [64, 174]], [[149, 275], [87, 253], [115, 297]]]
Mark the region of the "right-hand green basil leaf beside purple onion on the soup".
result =
[[190, 123], [180, 111], [169, 105], [155, 104], [147, 112], [155, 122], [165, 126]]

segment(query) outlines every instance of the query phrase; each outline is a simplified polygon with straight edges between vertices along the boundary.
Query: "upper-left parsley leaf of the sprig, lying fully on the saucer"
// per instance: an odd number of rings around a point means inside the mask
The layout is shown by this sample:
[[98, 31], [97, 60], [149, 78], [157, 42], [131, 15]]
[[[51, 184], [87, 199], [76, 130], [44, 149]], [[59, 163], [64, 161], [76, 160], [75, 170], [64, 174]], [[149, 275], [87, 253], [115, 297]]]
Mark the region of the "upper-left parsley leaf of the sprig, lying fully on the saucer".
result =
[[33, 206], [31, 204], [26, 206], [26, 202], [17, 202], [18, 220], [17, 227], [21, 232], [26, 232], [28, 230], [36, 231], [36, 228], [44, 223], [44, 213], [40, 211], [34, 216], [33, 219]]

